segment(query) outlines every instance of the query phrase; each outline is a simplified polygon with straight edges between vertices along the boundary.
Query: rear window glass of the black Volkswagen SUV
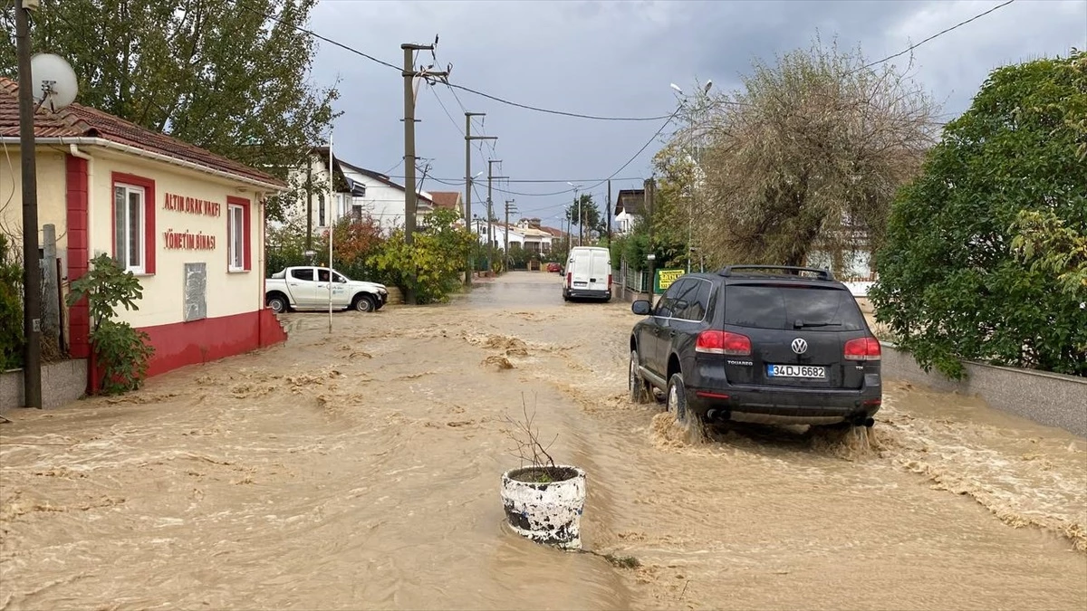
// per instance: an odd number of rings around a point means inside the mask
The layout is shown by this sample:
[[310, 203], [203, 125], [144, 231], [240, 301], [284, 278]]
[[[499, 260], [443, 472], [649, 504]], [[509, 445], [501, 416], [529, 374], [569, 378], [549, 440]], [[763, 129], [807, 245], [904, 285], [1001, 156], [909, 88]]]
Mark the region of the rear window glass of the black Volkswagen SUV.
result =
[[754, 328], [861, 331], [864, 315], [848, 290], [813, 286], [728, 285], [725, 324]]

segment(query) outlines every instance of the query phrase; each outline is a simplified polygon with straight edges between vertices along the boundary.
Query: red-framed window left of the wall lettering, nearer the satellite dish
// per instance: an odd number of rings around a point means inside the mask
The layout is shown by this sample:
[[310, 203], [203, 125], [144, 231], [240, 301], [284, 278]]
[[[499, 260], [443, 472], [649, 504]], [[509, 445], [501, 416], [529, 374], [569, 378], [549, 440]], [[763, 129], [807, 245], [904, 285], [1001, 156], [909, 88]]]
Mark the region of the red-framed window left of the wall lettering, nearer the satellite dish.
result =
[[113, 174], [113, 259], [126, 272], [154, 273], [154, 182]]

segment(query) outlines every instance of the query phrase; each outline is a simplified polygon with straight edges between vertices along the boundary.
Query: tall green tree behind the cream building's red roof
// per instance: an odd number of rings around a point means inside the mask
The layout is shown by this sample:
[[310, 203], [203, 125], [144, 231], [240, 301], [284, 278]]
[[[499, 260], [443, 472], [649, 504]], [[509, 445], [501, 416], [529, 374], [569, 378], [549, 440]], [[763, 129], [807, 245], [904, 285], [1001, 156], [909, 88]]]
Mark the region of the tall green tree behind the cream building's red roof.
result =
[[[316, 48], [299, 29], [315, 4], [42, 0], [33, 46], [72, 63], [78, 102], [285, 178], [334, 119], [337, 91], [310, 82]], [[12, 5], [0, 13], [0, 74], [14, 78]]]

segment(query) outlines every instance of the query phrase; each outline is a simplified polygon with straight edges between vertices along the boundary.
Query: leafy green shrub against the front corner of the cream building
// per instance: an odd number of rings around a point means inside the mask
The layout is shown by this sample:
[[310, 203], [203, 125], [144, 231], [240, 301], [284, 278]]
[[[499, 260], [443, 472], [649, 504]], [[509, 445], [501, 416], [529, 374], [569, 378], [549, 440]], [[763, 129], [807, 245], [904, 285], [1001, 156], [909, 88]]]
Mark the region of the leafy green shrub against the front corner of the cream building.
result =
[[[122, 271], [116, 261], [99, 254], [90, 261], [91, 269], [74, 280], [67, 304], [75, 306], [87, 298], [90, 311], [90, 340], [102, 372], [101, 388], [105, 395], [135, 390], [147, 377], [147, 365], [154, 353], [148, 335], [128, 323], [114, 320], [117, 306], [138, 310], [134, 302], [143, 296], [139, 279]], [[98, 375], [98, 372], [95, 372]]]

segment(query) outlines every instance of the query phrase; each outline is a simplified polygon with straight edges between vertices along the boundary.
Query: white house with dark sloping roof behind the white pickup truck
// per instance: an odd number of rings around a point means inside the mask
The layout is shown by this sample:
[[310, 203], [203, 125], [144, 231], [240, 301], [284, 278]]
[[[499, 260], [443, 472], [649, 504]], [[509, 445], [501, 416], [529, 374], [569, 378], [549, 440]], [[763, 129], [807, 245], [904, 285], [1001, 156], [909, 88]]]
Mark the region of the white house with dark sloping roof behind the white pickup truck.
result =
[[[313, 149], [309, 169], [290, 172], [289, 180], [298, 196], [288, 212], [289, 219], [305, 220], [307, 187], [310, 190], [310, 214], [315, 232], [325, 230], [346, 216], [371, 216], [383, 228], [391, 230], [404, 225], [402, 185], [379, 172], [348, 163], [333, 152], [333, 197], [328, 198], [328, 147]], [[435, 208], [434, 199], [426, 191], [418, 191], [416, 220]]]

